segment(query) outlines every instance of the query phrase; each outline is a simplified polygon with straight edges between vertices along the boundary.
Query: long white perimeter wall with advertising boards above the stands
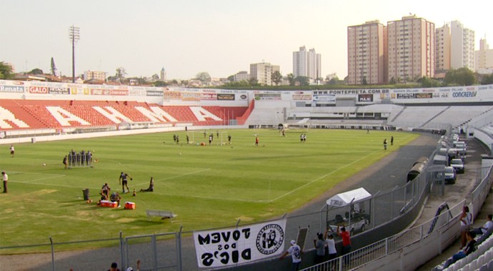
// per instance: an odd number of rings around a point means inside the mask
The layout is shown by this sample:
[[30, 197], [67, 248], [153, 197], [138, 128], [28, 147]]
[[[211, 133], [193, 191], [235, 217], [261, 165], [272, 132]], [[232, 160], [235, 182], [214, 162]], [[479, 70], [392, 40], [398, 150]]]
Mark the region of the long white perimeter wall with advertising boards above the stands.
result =
[[234, 91], [215, 88], [157, 88], [0, 80], [0, 98], [140, 101], [176, 106], [248, 106], [249, 101], [254, 99], [260, 102], [258, 106], [272, 106], [272, 108], [336, 106], [338, 100], [351, 100], [356, 106], [368, 106], [374, 103], [403, 105], [492, 103], [493, 85], [322, 91]]

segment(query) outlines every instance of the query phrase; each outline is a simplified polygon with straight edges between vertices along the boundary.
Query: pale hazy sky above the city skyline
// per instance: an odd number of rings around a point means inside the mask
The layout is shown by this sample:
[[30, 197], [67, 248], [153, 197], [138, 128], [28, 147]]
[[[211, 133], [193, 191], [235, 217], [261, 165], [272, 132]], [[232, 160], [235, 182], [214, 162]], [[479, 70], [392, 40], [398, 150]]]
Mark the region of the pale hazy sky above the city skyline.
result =
[[71, 76], [69, 27], [79, 26], [76, 74], [192, 78], [201, 71], [227, 77], [250, 63], [292, 73], [300, 46], [322, 54], [322, 76], [347, 76], [347, 26], [382, 24], [410, 13], [435, 27], [459, 20], [493, 47], [493, 1], [441, 0], [0, 0], [0, 61], [16, 71]]

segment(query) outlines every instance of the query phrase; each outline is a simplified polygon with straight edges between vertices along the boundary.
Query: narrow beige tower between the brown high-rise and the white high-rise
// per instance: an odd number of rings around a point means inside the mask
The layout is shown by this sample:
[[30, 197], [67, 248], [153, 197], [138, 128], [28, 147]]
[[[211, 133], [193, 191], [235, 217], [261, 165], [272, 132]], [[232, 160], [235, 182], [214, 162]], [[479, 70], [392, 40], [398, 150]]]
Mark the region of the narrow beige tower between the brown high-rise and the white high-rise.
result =
[[445, 73], [450, 69], [450, 26], [435, 30], [435, 73]]

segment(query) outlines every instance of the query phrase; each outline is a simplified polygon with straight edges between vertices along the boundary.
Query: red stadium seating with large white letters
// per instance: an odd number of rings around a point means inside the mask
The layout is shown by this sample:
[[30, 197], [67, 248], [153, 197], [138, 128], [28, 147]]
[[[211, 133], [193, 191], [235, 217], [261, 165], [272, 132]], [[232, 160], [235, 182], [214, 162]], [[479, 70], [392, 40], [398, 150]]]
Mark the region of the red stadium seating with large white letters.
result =
[[[224, 125], [229, 120], [245, 118], [247, 107], [201, 106], [201, 112], [211, 115], [196, 116], [191, 106], [160, 106], [136, 101], [37, 101], [37, 100], [0, 100], [15, 118], [27, 123], [19, 128], [66, 128], [111, 126], [119, 123], [151, 123], [141, 111], [156, 115], [152, 108], [160, 108], [174, 118], [173, 123], [191, 123], [194, 126]], [[137, 109], [140, 108], [140, 109]], [[73, 116], [69, 116], [69, 115]], [[106, 116], [111, 116], [113, 120]], [[163, 122], [163, 121], [158, 121]], [[168, 121], [164, 121], [168, 123]], [[171, 122], [171, 121], [169, 121]], [[9, 123], [10, 124], [10, 123]], [[9, 127], [2, 127], [9, 129]]]

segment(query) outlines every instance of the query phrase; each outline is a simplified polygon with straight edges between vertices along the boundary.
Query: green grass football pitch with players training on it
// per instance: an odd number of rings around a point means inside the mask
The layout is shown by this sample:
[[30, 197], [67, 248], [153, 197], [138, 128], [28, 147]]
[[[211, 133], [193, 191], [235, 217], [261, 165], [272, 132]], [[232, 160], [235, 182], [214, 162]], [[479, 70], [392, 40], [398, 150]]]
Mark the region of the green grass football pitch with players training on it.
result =
[[[416, 134], [389, 131], [217, 130], [211, 146], [204, 131], [152, 133], [2, 145], [0, 170], [9, 174], [9, 193], [0, 194], [0, 246], [93, 240], [253, 223], [299, 208], [344, 179], [367, 168]], [[221, 133], [226, 131], [226, 133]], [[178, 145], [173, 134], [180, 137]], [[307, 133], [301, 143], [300, 133]], [[231, 134], [231, 145], [226, 135]], [[259, 146], [254, 145], [255, 134]], [[383, 140], [394, 146], [383, 150]], [[204, 142], [205, 146], [197, 145]], [[93, 168], [64, 170], [69, 150], [91, 150]], [[46, 164], [46, 165], [44, 165]], [[101, 185], [121, 193], [119, 173], [129, 173], [129, 188], [139, 191], [154, 177], [154, 193], [121, 194], [121, 208], [96, 205]], [[83, 200], [89, 188], [93, 203]], [[124, 210], [126, 201], [136, 210]], [[146, 210], [172, 210], [174, 222], [146, 218]]]

